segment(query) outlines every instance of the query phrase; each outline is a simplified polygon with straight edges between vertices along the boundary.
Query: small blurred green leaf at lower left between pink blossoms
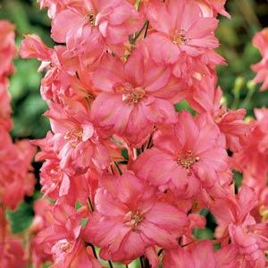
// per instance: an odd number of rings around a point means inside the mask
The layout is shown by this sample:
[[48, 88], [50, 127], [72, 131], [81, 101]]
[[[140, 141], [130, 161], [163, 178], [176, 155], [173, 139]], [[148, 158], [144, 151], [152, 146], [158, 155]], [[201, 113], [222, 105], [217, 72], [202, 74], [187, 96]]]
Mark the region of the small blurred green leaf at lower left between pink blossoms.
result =
[[16, 234], [29, 228], [34, 213], [31, 205], [21, 203], [15, 211], [9, 210], [6, 214], [10, 221], [11, 229]]

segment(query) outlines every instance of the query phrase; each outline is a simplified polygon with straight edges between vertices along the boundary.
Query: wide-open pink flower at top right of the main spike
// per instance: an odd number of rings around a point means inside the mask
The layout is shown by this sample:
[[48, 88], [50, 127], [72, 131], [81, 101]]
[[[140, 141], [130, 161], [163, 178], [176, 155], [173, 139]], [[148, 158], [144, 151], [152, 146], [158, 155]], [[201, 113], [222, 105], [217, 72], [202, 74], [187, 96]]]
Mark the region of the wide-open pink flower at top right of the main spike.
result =
[[147, 38], [147, 46], [156, 63], [176, 63], [182, 52], [197, 56], [219, 45], [214, 37], [218, 21], [202, 17], [195, 1], [151, 1], [147, 18], [155, 29]]

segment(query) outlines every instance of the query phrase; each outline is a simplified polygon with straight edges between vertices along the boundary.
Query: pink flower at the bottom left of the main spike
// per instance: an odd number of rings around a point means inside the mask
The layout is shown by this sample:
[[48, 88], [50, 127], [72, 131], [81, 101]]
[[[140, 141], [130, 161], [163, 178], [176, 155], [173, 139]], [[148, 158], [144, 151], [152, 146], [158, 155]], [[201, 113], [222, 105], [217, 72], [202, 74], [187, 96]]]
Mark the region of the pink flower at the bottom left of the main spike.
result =
[[51, 211], [50, 225], [41, 230], [35, 243], [42, 245], [47, 254], [53, 255], [54, 268], [101, 268], [92, 252], [80, 238], [83, 212], [71, 205], [55, 205]]

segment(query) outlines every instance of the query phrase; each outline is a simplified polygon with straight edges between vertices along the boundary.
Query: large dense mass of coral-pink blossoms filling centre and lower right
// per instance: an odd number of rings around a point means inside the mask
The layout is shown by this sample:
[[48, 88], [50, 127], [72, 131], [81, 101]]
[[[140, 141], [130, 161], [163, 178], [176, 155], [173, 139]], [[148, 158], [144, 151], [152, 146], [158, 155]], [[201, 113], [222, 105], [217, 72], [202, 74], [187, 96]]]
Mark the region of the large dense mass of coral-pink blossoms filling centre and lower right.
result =
[[[52, 128], [35, 141], [52, 202], [36, 205], [34, 264], [264, 267], [268, 112], [247, 125], [244, 109], [221, 103], [214, 30], [225, 0], [39, 3], [58, 45], [21, 44], [46, 70]], [[176, 113], [182, 100], [193, 113]], [[211, 240], [194, 235], [204, 209], [217, 222]]]

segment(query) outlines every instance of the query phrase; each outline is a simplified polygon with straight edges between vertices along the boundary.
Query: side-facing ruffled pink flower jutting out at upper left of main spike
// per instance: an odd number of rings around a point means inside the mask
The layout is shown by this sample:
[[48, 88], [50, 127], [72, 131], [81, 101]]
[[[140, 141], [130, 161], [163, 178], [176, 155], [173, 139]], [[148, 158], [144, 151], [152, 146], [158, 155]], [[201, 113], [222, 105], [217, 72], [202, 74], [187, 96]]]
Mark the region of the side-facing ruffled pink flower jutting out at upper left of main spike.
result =
[[66, 97], [88, 102], [95, 97], [88, 70], [80, 67], [79, 59], [70, 56], [65, 46], [47, 47], [40, 38], [28, 35], [21, 43], [22, 58], [38, 58], [41, 66], [46, 68], [46, 76], [42, 80], [41, 95], [45, 100], [63, 103]]

